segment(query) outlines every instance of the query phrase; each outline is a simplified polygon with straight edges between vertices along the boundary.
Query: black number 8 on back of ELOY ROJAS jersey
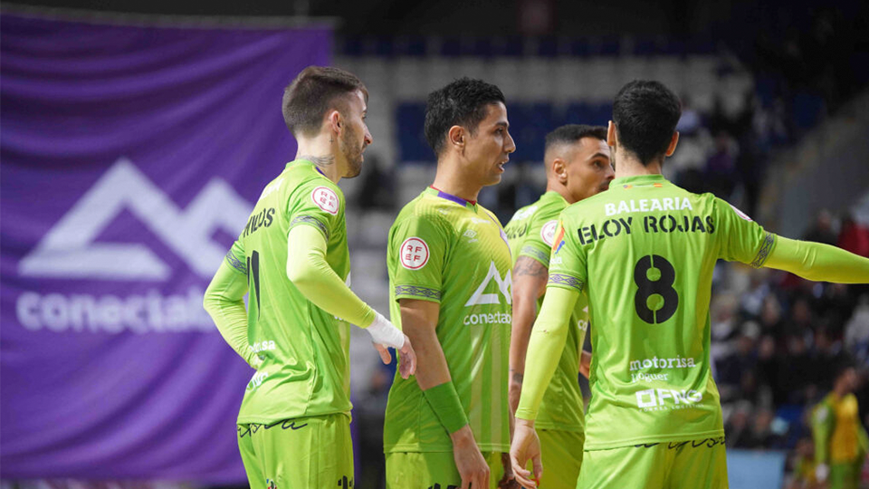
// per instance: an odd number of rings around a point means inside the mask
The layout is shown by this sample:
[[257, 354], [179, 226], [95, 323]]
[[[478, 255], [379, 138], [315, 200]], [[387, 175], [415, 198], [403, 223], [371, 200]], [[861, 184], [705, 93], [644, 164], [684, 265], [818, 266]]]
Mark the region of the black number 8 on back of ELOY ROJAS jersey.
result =
[[636, 315], [649, 324], [660, 324], [673, 317], [679, 306], [679, 293], [673, 289], [676, 271], [663, 256], [650, 254], [636, 262], [634, 295]]

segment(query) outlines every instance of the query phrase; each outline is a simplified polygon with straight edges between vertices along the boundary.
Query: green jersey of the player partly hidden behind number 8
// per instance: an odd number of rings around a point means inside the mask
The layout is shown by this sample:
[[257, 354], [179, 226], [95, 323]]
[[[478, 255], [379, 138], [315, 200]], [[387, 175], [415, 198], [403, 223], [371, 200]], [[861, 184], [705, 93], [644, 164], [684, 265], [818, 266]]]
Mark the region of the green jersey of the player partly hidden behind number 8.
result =
[[[507, 227], [507, 238], [515, 260], [528, 256], [549, 268], [549, 253], [555, 240], [559, 214], [568, 201], [558, 192], [547, 192], [540, 200], [516, 211]], [[538, 311], [543, 298], [538, 300]], [[579, 359], [588, 329], [588, 307], [585, 294], [580, 294], [577, 307], [570, 317], [568, 340], [561, 353], [559, 367], [543, 395], [535, 422], [541, 429], [582, 431], [585, 426], [582, 391], [579, 389]], [[533, 359], [530, 359], [534, 361]]]

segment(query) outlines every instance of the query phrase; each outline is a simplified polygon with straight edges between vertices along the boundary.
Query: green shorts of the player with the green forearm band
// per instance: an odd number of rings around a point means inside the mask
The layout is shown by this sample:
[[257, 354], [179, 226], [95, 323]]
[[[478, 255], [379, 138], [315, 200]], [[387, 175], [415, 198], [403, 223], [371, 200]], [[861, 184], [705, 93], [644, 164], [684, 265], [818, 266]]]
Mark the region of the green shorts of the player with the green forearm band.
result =
[[[489, 464], [489, 487], [496, 489], [504, 475], [500, 452], [483, 452]], [[458, 489], [462, 477], [453, 452], [395, 452], [387, 454], [387, 489]]]

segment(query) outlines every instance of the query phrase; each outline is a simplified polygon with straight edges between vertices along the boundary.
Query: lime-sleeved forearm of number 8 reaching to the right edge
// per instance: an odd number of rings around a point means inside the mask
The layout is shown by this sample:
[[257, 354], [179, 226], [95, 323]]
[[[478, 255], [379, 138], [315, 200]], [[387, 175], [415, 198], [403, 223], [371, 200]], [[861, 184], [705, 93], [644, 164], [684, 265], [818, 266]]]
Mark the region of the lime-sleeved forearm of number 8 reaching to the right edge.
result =
[[807, 280], [835, 283], [869, 283], [869, 258], [836, 246], [777, 236], [766, 264]]

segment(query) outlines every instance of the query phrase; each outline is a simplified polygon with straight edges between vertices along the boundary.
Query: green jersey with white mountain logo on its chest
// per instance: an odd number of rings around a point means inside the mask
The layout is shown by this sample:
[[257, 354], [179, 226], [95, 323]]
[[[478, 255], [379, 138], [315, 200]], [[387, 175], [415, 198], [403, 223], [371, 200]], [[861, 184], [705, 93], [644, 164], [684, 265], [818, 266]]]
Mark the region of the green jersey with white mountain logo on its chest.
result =
[[[511, 256], [498, 218], [482, 206], [426, 188], [389, 230], [387, 266], [392, 321], [400, 327], [399, 299], [440, 304], [437, 340], [477, 446], [483, 452], [509, 451]], [[384, 449], [453, 450], [413, 377], [396, 373]]]

